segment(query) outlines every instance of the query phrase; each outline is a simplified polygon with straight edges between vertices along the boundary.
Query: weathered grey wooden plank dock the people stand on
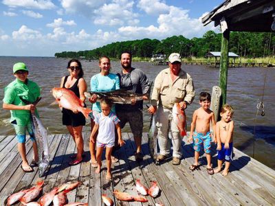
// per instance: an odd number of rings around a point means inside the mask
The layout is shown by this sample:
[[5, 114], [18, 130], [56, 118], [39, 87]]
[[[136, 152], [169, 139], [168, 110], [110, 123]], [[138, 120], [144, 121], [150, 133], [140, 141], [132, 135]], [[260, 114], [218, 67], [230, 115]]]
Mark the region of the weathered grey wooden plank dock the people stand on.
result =
[[[69, 166], [69, 155], [75, 152], [75, 144], [69, 135], [49, 135], [51, 165], [42, 178], [45, 179], [43, 194], [53, 187], [67, 181], [81, 181], [83, 184], [69, 192], [69, 202], [104, 205], [101, 194], [107, 194], [115, 205], [155, 205], [163, 203], [168, 206], [181, 205], [275, 205], [275, 171], [259, 161], [234, 149], [234, 161], [228, 176], [206, 172], [206, 157], [200, 157], [201, 170], [191, 172], [188, 167], [193, 163], [194, 152], [190, 144], [182, 142], [184, 157], [180, 165], [173, 165], [168, 159], [161, 165], [155, 165], [148, 155], [148, 134], [144, 133], [142, 151], [144, 160], [137, 163], [133, 153], [135, 144], [131, 133], [123, 133], [125, 146], [117, 151], [118, 163], [113, 163], [112, 181], [104, 178], [106, 170], [96, 174], [89, 163], [89, 146], [85, 133], [85, 157], [81, 164]], [[26, 149], [29, 162], [32, 160], [30, 140]], [[214, 146], [213, 146], [214, 154]], [[217, 166], [217, 157], [213, 157], [213, 166]], [[105, 161], [103, 161], [103, 167]], [[21, 157], [17, 152], [17, 138], [0, 136], [0, 205], [14, 192], [34, 185], [39, 179], [37, 167], [32, 173], [24, 173], [21, 168]], [[135, 180], [140, 179], [146, 187], [150, 181], [157, 181], [160, 194], [157, 198], [148, 198], [147, 203], [118, 201], [113, 190], [137, 194]], [[19, 204], [17, 204], [19, 205]]]

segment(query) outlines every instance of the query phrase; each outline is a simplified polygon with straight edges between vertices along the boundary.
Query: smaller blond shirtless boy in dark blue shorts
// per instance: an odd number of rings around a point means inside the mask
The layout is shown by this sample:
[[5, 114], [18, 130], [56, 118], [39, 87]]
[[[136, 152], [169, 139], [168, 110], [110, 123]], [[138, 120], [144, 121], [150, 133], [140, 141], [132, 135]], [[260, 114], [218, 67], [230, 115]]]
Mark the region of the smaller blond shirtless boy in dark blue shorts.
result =
[[232, 161], [233, 154], [233, 130], [234, 122], [232, 115], [234, 111], [229, 104], [223, 105], [221, 108], [221, 121], [216, 125], [216, 137], [217, 137], [217, 154], [218, 154], [218, 168], [214, 170], [214, 173], [221, 171], [221, 165], [225, 161], [225, 168], [223, 170], [223, 176], [227, 176], [229, 172], [230, 162]]

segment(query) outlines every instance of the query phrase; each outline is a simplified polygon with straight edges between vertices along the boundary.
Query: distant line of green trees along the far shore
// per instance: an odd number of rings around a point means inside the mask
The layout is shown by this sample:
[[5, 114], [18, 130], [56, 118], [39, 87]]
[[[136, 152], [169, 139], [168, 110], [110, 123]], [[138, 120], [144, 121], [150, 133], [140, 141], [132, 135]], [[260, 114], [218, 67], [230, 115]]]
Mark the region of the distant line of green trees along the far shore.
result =
[[[256, 58], [274, 56], [275, 35], [271, 33], [256, 32], [231, 32], [230, 52], [239, 56]], [[159, 41], [157, 39], [144, 38], [135, 41], [123, 41], [104, 45], [102, 47], [79, 51], [61, 52], [54, 56], [57, 58], [81, 58], [98, 59], [100, 56], [120, 58], [122, 52], [131, 52], [133, 56], [150, 58], [152, 54], [166, 54], [178, 52], [182, 57], [206, 56], [208, 52], [221, 51], [221, 34], [213, 31], [206, 32], [201, 38], [185, 38], [184, 36], [171, 36]]]

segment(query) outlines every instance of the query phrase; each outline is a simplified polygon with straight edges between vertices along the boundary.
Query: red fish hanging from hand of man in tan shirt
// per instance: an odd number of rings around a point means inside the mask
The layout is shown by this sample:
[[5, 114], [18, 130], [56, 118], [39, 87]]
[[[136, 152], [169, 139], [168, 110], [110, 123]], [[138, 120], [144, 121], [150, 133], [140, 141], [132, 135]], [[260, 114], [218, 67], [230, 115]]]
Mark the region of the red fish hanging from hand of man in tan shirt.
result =
[[173, 121], [177, 125], [177, 128], [179, 129], [179, 134], [181, 137], [186, 136], [186, 115], [184, 113], [184, 110], [181, 109], [179, 106], [179, 103], [175, 103], [172, 109], [172, 115], [173, 115]]

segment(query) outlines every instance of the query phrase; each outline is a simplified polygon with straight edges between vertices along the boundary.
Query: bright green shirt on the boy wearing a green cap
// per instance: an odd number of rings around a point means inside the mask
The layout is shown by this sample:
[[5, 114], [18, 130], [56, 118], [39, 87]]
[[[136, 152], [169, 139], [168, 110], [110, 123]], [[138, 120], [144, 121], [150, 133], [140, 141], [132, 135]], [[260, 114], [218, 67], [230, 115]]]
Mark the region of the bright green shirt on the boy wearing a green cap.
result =
[[[5, 87], [3, 102], [5, 104], [22, 106], [25, 104], [19, 97], [24, 100], [28, 100], [29, 102], [34, 102], [37, 98], [39, 98], [39, 96], [40, 87], [35, 82], [27, 80], [27, 84], [25, 84], [24, 82], [16, 79]], [[11, 110], [10, 114], [10, 122], [16, 120], [17, 124], [20, 126], [25, 126], [30, 121], [30, 111], [28, 110]], [[37, 111], [36, 114], [38, 115]]]

